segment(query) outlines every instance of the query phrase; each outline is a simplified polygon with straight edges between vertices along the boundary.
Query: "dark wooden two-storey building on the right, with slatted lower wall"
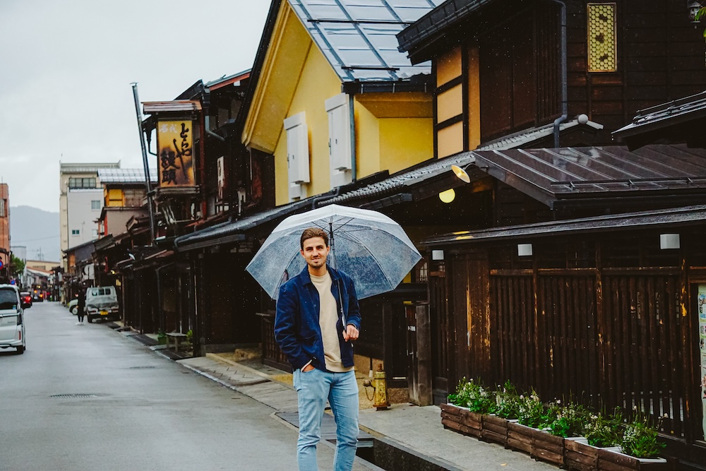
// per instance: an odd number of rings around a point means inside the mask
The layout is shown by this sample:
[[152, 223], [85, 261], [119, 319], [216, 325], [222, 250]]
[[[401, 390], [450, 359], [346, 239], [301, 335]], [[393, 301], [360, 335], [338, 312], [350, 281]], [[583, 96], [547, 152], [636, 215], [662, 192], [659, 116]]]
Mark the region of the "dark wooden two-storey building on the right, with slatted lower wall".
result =
[[425, 240], [436, 402], [467, 376], [666, 414], [668, 453], [702, 469], [706, 155], [611, 146], [639, 109], [702, 90], [688, 13], [449, 0], [397, 35], [433, 61], [436, 156], [467, 157], [456, 193], [483, 215]]

